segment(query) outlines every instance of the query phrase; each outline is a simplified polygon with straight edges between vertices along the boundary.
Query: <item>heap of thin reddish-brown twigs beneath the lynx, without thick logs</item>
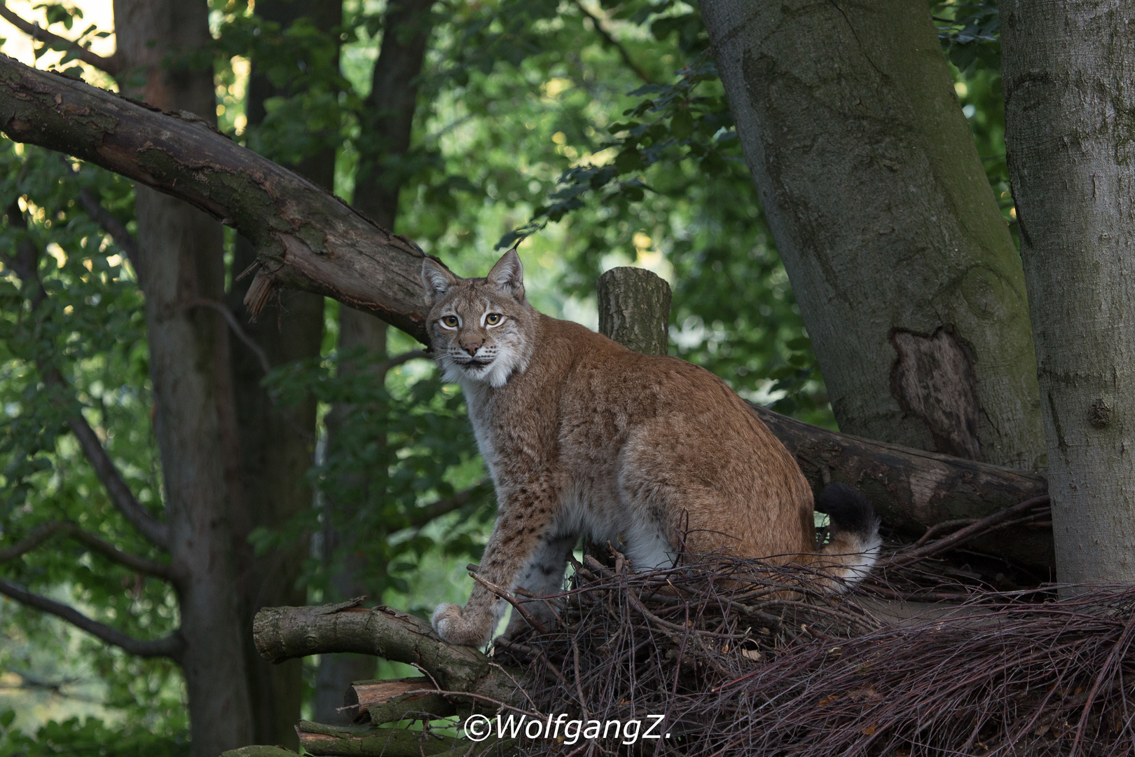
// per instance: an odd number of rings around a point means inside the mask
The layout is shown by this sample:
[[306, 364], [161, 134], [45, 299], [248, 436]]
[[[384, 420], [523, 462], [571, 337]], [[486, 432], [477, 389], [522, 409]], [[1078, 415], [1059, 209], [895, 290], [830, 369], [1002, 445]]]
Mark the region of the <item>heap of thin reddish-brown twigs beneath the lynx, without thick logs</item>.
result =
[[[914, 562], [890, 565], [893, 578]], [[634, 573], [617, 555], [613, 567], [585, 558], [558, 598], [562, 623], [498, 641], [495, 655], [528, 670], [533, 712], [663, 715], [669, 738], [522, 747], [706, 757], [1135, 751], [1135, 588], [1059, 600], [1051, 588], [970, 589], [897, 623], [866, 599], [808, 589], [802, 573], [720, 557]]]

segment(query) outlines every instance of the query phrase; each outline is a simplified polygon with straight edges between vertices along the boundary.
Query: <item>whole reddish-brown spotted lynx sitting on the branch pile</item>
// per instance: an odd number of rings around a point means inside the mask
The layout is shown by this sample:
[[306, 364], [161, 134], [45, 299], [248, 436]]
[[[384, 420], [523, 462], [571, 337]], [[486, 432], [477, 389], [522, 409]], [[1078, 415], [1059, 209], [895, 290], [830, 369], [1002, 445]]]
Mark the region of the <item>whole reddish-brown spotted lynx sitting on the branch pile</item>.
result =
[[[672, 565], [680, 533], [693, 554], [822, 566], [833, 591], [871, 570], [871, 504], [829, 487], [832, 540], [817, 553], [800, 469], [716, 376], [538, 312], [515, 251], [486, 278], [456, 278], [427, 258], [422, 281], [430, 343], [464, 392], [499, 502], [479, 569], [489, 582], [558, 592], [581, 533], [621, 545], [637, 570]], [[484, 645], [506, 606], [477, 583], [464, 607], [437, 607], [434, 630]], [[529, 607], [538, 615], [544, 603]], [[523, 624], [514, 613], [508, 631]]]

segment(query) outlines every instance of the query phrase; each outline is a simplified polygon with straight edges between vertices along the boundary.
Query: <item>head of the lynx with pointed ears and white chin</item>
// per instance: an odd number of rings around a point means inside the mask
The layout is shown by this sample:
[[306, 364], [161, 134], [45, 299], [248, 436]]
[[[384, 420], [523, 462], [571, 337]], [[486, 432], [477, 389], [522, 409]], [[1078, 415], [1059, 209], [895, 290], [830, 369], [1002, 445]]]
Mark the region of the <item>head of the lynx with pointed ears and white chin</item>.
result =
[[515, 250], [485, 278], [457, 278], [427, 258], [422, 284], [430, 305], [430, 344], [445, 380], [502, 387], [532, 354], [536, 310], [524, 298], [524, 269]]

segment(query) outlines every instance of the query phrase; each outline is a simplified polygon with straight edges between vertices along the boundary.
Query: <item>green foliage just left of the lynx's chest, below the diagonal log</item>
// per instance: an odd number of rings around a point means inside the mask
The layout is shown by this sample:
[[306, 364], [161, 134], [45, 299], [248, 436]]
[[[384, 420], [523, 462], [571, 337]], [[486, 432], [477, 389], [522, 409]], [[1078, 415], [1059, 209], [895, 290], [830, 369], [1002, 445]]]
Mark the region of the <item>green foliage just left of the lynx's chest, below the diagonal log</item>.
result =
[[285, 365], [266, 380], [278, 402], [313, 392], [337, 415], [309, 473], [321, 499], [336, 506], [252, 536], [262, 553], [329, 527], [350, 535], [345, 548], [321, 545], [308, 561], [304, 580], [320, 591], [350, 565], [372, 597], [405, 592], [407, 574], [429, 554], [478, 558], [494, 515], [490, 489], [477, 487], [442, 538], [422, 528], [421, 505], [476, 485], [482, 466], [456, 387], [444, 386], [432, 365], [418, 375], [395, 370], [381, 381], [381, 362], [361, 350], [337, 352]]

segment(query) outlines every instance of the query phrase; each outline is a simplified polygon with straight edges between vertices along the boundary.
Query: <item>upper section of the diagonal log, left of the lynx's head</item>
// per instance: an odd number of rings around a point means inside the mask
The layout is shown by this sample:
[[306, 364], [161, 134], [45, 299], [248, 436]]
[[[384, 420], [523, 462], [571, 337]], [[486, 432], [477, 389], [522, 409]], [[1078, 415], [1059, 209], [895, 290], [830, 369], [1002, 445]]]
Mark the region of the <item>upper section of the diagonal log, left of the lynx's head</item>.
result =
[[261, 269], [250, 296], [293, 286], [426, 340], [424, 253], [311, 182], [193, 117], [162, 113], [0, 57], [0, 129], [91, 161], [235, 226]]

